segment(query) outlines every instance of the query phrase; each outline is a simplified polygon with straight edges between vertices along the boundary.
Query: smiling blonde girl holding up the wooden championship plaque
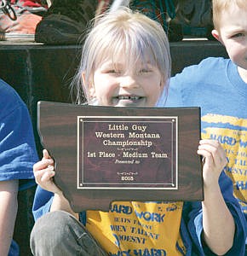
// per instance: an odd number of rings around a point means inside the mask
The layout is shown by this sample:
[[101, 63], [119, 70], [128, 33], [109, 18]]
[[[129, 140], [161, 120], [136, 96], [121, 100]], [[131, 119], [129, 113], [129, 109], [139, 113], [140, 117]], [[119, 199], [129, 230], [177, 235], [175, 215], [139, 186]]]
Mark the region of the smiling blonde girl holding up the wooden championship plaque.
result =
[[[121, 8], [95, 20], [83, 44], [74, 87], [76, 101], [116, 107], [155, 106], [167, 90], [169, 43], [162, 27], [145, 15]], [[227, 160], [213, 140], [199, 143], [204, 156], [204, 201], [116, 201], [109, 212], [72, 212], [53, 183], [54, 161], [46, 150], [34, 165], [37, 220], [34, 255], [241, 255], [244, 227]], [[59, 172], [59, 170], [56, 170]], [[122, 209], [122, 210], [121, 210]], [[208, 255], [208, 254], [207, 254]]]

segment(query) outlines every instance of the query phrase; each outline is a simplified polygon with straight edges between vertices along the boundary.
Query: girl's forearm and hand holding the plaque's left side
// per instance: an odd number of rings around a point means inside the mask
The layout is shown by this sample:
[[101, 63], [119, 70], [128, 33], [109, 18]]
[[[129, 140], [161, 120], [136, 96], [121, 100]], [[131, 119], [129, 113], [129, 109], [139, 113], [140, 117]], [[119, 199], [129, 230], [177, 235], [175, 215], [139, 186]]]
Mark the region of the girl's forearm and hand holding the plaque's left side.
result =
[[66, 211], [78, 218], [78, 214], [72, 211], [72, 208], [63, 195], [63, 192], [55, 185], [53, 181], [53, 177], [55, 176], [54, 160], [50, 158], [46, 149], [43, 150], [43, 159], [38, 161], [33, 166], [33, 172], [36, 183], [41, 188], [55, 194], [52, 205], [50, 207], [50, 212], [58, 210]]

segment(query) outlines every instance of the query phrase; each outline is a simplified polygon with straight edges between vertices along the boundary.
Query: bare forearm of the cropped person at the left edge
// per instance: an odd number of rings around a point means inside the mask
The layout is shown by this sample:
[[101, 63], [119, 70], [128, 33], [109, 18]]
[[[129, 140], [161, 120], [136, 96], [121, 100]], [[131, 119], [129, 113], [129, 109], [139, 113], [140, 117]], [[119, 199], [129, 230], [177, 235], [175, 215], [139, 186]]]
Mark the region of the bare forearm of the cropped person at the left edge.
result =
[[18, 180], [0, 182], [0, 255], [7, 256], [17, 214]]

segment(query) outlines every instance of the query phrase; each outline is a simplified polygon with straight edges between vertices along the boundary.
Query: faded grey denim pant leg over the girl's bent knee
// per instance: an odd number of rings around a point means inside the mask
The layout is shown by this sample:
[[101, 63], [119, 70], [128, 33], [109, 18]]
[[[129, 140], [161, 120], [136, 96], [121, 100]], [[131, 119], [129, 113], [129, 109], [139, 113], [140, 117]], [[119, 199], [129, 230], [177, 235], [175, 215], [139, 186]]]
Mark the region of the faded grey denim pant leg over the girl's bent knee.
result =
[[30, 246], [37, 256], [108, 255], [76, 218], [68, 212], [49, 212], [38, 218]]

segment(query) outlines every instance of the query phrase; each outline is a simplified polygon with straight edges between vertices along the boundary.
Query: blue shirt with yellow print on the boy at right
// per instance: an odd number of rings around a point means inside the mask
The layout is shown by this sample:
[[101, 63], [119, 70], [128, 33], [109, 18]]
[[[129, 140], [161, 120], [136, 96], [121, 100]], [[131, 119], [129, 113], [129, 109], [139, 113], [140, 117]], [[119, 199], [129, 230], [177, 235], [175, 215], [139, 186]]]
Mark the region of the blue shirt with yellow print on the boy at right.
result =
[[[247, 84], [230, 59], [210, 57], [170, 79], [159, 107], [200, 107], [203, 138], [227, 153], [225, 172], [247, 219]], [[246, 222], [245, 222], [246, 228]]]

